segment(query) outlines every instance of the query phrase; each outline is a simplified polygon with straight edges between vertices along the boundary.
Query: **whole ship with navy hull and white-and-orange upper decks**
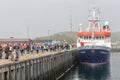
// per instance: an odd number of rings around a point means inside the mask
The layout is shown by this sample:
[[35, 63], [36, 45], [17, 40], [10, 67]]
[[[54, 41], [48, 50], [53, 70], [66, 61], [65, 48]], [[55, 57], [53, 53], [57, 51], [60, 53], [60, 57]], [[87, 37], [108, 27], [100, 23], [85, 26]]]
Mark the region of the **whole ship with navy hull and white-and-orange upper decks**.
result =
[[100, 10], [93, 6], [89, 9], [88, 27], [83, 30], [79, 25], [77, 33], [78, 60], [88, 65], [100, 65], [110, 62], [111, 32], [109, 22], [100, 26]]

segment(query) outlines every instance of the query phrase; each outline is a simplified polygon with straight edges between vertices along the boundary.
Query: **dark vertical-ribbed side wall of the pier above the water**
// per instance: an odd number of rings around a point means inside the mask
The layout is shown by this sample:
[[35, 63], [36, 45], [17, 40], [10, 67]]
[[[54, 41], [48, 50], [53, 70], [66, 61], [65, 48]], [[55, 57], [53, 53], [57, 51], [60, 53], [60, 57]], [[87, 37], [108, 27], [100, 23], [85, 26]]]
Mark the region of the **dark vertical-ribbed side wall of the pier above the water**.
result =
[[59, 80], [75, 64], [77, 51], [0, 65], [0, 80]]

